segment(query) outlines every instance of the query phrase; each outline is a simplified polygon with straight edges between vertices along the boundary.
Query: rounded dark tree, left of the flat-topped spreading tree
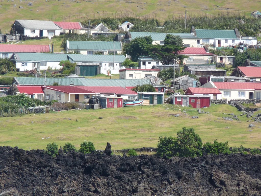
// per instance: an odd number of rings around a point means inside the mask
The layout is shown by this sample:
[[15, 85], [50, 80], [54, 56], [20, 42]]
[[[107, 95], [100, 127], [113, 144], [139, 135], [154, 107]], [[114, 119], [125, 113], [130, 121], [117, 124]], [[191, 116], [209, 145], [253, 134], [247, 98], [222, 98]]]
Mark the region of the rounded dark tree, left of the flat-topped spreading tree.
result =
[[152, 44], [151, 36], [136, 37], [129, 44], [125, 45], [124, 51], [126, 54], [131, 55], [132, 61], [138, 61], [139, 56], [147, 55], [145, 48], [149, 44]]

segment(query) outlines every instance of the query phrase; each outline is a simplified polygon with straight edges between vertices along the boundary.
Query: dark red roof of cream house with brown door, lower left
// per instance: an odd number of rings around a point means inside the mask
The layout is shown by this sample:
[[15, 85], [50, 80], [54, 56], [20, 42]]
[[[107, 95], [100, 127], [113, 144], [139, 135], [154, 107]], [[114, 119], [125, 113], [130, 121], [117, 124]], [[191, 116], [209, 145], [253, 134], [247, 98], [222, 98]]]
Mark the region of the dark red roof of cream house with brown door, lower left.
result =
[[79, 88], [79, 86], [45, 86], [44, 88], [72, 94], [96, 94], [92, 91]]

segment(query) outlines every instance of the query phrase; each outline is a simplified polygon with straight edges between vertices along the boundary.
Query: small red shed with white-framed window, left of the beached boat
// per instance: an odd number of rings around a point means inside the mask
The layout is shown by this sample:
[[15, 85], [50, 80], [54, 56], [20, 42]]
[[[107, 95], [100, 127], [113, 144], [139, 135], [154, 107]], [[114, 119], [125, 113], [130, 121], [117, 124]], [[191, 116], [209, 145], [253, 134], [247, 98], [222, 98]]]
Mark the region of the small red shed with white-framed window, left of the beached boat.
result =
[[100, 100], [102, 108], [118, 108], [123, 107], [123, 97], [114, 96], [92, 96]]

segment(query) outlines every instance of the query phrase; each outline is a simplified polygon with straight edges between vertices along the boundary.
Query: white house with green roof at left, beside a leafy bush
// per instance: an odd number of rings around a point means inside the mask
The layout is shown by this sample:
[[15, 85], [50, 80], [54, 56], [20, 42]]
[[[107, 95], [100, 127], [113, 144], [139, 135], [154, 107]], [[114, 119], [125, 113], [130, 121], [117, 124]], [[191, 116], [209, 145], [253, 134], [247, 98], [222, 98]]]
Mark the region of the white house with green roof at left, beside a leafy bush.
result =
[[14, 53], [11, 58], [16, 64], [17, 71], [27, 70], [59, 70], [62, 66], [61, 61], [68, 60], [66, 54], [48, 54], [48, 53]]

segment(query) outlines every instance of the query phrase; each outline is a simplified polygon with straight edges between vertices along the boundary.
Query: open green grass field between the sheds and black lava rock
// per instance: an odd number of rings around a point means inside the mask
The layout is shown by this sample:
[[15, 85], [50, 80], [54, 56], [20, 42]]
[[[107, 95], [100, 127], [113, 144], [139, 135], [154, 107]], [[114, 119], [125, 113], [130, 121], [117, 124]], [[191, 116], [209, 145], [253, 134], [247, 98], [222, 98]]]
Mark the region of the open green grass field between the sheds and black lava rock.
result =
[[[159, 136], [176, 136], [183, 126], [193, 127], [203, 142], [228, 141], [229, 146], [259, 147], [261, 123], [247, 122], [245, 116], [228, 121], [223, 113], [241, 114], [229, 105], [204, 108], [209, 114], [198, 114], [197, 109], [173, 105], [137, 106], [98, 110], [71, 110], [46, 114], [28, 114], [21, 117], [0, 118], [0, 146], [18, 146], [23, 149], [45, 149], [48, 143], [63, 146], [71, 142], [79, 149], [83, 141], [91, 141], [96, 149], [157, 147]], [[192, 119], [192, 116], [199, 116]], [[99, 117], [103, 117], [99, 119]], [[231, 117], [231, 116], [230, 116]], [[77, 120], [77, 121], [76, 121]], [[248, 128], [252, 123], [255, 127]], [[44, 138], [44, 139], [43, 139]]]

